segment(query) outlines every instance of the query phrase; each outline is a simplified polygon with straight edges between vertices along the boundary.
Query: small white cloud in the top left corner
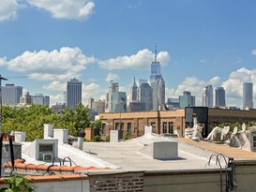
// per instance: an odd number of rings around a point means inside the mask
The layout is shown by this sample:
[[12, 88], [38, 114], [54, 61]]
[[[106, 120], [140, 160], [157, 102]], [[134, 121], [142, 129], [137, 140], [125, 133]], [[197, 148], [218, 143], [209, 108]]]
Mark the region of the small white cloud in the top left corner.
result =
[[1, 0], [0, 4], [0, 22], [16, 18], [17, 10], [20, 7], [18, 0]]

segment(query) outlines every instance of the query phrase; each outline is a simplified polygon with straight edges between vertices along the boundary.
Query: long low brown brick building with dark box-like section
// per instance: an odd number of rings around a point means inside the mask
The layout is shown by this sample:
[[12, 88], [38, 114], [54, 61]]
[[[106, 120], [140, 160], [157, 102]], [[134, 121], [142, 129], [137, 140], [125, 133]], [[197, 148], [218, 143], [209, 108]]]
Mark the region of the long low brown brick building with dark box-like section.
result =
[[109, 136], [110, 130], [121, 130], [128, 135], [138, 137], [143, 135], [144, 126], [152, 126], [157, 134], [173, 134], [179, 130], [184, 136], [185, 128], [193, 126], [193, 117], [202, 123], [203, 137], [206, 137], [213, 127], [222, 123], [256, 122], [256, 110], [212, 109], [206, 107], [188, 107], [173, 111], [138, 111], [138, 112], [106, 112], [100, 113], [102, 122], [102, 138]]

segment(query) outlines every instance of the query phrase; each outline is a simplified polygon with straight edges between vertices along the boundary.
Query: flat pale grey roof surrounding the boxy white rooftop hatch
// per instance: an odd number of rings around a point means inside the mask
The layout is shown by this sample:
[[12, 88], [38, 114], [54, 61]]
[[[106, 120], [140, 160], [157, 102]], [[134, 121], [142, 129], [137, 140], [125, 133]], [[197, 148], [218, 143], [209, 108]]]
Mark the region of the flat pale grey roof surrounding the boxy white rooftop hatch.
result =
[[[141, 153], [145, 145], [161, 141], [177, 142], [178, 157], [159, 160]], [[219, 170], [216, 159], [207, 165], [215, 153], [155, 134], [121, 142], [83, 142], [83, 151], [123, 170]]]

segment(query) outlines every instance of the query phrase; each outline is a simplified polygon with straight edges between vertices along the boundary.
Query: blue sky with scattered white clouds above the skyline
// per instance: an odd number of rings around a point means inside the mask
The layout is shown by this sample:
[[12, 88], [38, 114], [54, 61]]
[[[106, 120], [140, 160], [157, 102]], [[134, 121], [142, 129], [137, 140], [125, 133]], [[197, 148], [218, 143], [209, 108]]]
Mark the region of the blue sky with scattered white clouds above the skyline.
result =
[[[43, 3], [42, 3], [43, 2]], [[0, 74], [31, 95], [63, 102], [67, 81], [83, 81], [83, 104], [149, 79], [156, 42], [166, 98], [203, 87], [242, 106], [242, 83], [256, 98], [253, 0], [0, 0]], [[26, 77], [26, 78], [12, 78]], [[6, 81], [3, 82], [5, 84]], [[254, 99], [256, 105], [256, 100]]]

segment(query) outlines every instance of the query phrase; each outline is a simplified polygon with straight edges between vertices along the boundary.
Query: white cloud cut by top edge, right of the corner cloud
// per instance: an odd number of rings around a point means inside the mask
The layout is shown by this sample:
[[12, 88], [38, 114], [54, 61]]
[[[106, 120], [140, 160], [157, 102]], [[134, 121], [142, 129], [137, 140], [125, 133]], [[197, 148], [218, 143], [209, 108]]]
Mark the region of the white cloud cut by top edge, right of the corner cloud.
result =
[[51, 12], [53, 18], [70, 20], [85, 20], [95, 7], [92, 0], [27, 0], [27, 3]]

